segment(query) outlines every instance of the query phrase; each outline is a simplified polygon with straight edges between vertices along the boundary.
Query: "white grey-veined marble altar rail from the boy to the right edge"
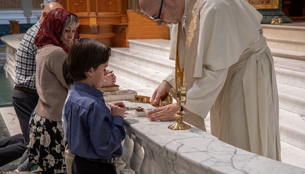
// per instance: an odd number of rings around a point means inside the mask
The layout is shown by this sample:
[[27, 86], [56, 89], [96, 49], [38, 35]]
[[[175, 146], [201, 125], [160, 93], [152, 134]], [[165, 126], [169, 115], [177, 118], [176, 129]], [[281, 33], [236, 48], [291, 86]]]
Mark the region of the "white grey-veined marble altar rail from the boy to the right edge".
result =
[[[125, 101], [125, 105], [138, 104]], [[167, 126], [172, 123], [150, 121], [145, 116], [136, 116], [134, 111], [127, 111], [124, 124], [128, 137], [121, 157], [129, 162], [127, 167], [143, 174], [305, 173], [303, 168], [226, 144], [194, 126], [188, 130], [170, 130]], [[128, 173], [124, 171], [128, 170], [123, 168], [120, 173]]]

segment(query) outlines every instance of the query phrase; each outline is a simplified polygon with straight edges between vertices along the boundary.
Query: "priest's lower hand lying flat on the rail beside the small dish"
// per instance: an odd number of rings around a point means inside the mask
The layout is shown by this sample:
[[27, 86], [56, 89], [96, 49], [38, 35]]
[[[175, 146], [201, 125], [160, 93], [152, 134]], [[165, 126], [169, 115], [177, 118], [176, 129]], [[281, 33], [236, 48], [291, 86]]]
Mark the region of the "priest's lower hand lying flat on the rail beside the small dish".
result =
[[152, 121], [172, 121], [177, 119], [174, 114], [178, 111], [177, 103], [154, 108], [147, 112], [147, 118]]

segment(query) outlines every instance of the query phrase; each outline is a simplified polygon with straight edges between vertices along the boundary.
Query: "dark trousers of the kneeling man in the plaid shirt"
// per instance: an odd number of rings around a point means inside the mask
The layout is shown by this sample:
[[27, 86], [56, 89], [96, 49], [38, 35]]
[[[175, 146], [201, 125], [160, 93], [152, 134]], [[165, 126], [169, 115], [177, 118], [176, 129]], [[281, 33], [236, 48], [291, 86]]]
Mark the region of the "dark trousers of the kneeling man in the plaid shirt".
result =
[[27, 130], [30, 116], [38, 103], [38, 99], [38, 94], [14, 89], [12, 101], [22, 134], [0, 140], [0, 166], [21, 158], [26, 151], [29, 140]]

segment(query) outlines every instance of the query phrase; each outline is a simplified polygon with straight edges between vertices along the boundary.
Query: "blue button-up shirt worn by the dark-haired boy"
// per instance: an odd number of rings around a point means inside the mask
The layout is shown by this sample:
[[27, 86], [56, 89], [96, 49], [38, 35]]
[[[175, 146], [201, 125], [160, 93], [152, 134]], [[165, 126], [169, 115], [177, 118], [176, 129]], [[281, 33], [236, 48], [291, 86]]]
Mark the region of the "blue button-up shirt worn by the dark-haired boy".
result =
[[122, 155], [121, 142], [125, 138], [124, 119], [111, 117], [103, 92], [80, 82], [64, 109], [67, 121], [67, 142], [72, 154], [84, 158], [111, 158]]

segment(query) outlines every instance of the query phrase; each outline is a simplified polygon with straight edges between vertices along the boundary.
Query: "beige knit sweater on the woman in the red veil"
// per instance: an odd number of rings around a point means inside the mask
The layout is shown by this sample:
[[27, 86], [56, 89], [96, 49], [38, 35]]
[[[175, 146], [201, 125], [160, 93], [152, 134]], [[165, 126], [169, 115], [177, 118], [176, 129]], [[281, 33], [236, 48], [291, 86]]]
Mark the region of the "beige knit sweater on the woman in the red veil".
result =
[[61, 121], [68, 87], [63, 78], [63, 62], [68, 53], [56, 45], [38, 49], [36, 55], [36, 88], [39, 101], [35, 112], [51, 121]]

